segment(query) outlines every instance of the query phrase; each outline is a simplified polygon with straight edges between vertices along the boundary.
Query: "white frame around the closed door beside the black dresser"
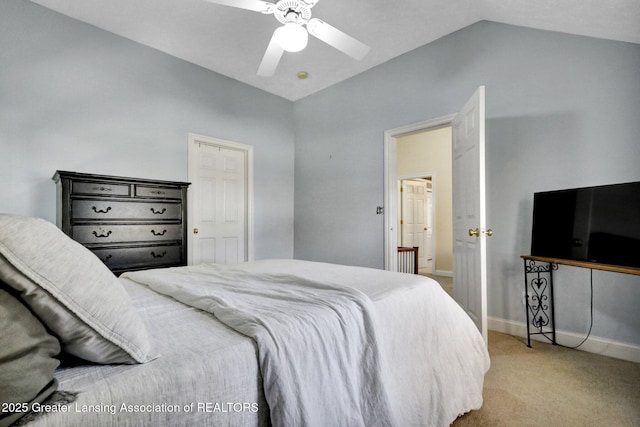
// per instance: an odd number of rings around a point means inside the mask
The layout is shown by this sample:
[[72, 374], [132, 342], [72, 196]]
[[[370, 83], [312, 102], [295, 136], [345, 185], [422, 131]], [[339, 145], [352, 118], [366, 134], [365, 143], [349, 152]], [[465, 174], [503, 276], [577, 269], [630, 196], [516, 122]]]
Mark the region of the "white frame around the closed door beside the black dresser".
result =
[[[253, 261], [253, 147], [239, 142], [226, 141], [224, 139], [213, 138], [206, 135], [189, 133], [188, 135], [188, 162], [187, 170], [189, 181], [193, 180], [194, 170], [191, 168], [192, 161], [197, 155], [196, 144], [207, 144], [215, 147], [222, 147], [229, 150], [237, 150], [245, 153], [245, 257], [247, 261]], [[187, 197], [187, 264], [191, 265], [193, 253], [193, 192]]]

